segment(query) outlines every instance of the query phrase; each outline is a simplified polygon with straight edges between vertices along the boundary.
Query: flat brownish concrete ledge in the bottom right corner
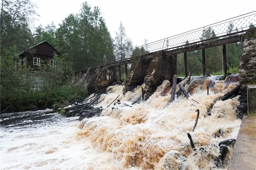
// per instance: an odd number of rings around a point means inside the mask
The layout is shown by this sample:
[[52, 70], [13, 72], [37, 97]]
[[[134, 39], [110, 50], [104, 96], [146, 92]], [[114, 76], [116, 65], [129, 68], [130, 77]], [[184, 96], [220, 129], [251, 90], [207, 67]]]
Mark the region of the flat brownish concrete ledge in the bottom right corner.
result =
[[256, 169], [256, 116], [244, 116], [229, 170]]

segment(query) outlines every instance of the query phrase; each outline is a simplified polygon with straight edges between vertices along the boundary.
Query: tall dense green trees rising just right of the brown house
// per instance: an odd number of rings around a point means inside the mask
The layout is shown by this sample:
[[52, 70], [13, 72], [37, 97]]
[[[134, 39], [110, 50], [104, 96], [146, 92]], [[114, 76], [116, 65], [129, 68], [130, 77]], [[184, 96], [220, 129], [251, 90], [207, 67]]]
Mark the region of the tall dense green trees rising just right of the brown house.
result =
[[78, 14], [70, 14], [56, 32], [57, 48], [74, 64], [84, 69], [113, 55], [113, 42], [98, 7], [83, 3]]

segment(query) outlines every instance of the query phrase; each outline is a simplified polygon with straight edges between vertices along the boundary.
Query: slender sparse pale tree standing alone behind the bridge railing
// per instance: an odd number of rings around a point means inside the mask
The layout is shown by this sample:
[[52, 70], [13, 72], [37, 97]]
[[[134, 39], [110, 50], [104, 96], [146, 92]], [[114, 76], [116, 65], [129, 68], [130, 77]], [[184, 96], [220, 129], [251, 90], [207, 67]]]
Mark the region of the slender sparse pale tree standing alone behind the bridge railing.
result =
[[132, 41], [126, 35], [123, 22], [120, 22], [118, 32], [116, 32], [116, 37], [114, 38], [114, 53], [116, 54], [116, 59], [124, 59], [126, 55], [125, 51], [130, 50], [132, 48]]

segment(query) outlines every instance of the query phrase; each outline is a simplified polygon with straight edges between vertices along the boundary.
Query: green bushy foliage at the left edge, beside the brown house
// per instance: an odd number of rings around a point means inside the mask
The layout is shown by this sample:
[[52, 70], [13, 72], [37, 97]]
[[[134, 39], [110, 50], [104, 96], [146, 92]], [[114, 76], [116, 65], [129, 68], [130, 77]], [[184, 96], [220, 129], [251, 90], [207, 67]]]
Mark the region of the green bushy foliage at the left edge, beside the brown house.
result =
[[30, 100], [34, 79], [27, 74], [29, 67], [17, 64], [15, 47], [0, 55], [0, 103], [19, 104]]

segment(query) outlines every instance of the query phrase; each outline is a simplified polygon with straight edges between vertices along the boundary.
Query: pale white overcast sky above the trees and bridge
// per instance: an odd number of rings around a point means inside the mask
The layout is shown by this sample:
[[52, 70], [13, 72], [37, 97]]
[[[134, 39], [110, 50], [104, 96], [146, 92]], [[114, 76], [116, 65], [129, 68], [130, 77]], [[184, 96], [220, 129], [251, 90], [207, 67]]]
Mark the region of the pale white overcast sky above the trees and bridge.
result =
[[[85, 0], [34, 0], [38, 5], [38, 24], [58, 24], [77, 13]], [[123, 22], [133, 45], [167, 38], [221, 20], [256, 10], [256, 0], [87, 0], [98, 5], [112, 35]]]

